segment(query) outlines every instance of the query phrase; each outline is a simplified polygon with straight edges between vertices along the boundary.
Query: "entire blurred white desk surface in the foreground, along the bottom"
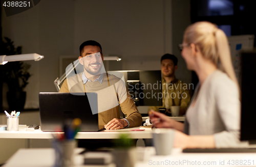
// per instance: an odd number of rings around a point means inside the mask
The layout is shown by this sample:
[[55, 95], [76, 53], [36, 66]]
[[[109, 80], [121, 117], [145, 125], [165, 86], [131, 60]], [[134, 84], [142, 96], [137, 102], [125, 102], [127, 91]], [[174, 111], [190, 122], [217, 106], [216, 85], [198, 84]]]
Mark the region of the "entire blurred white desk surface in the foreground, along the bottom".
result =
[[[78, 153], [81, 150], [76, 150]], [[151, 156], [144, 162], [137, 162], [135, 167], [144, 166], [255, 166], [255, 153], [182, 153], [181, 149], [175, 148], [172, 155], [168, 156]], [[248, 164], [250, 160], [250, 165]], [[185, 162], [186, 161], [186, 162]], [[189, 164], [189, 162], [190, 164]], [[222, 163], [224, 161], [224, 164]], [[228, 161], [230, 164], [228, 164]], [[237, 161], [237, 164], [236, 164]], [[162, 162], [162, 165], [161, 165]], [[176, 163], [176, 164], [172, 164]], [[181, 163], [182, 162], [182, 163]], [[54, 150], [45, 149], [19, 149], [3, 167], [50, 167], [54, 163]], [[158, 164], [160, 163], [160, 164]], [[199, 165], [200, 163], [200, 165]], [[206, 163], [205, 165], [203, 163]], [[207, 164], [208, 163], [208, 164]], [[234, 163], [234, 164], [232, 164]], [[194, 165], [193, 165], [194, 164]], [[75, 156], [75, 166], [82, 165], [82, 156]], [[94, 165], [93, 165], [94, 166]], [[95, 165], [94, 167], [97, 167]], [[100, 166], [100, 165], [99, 165]], [[115, 166], [111, 164], [108, 166]]]

